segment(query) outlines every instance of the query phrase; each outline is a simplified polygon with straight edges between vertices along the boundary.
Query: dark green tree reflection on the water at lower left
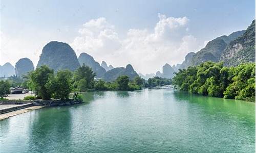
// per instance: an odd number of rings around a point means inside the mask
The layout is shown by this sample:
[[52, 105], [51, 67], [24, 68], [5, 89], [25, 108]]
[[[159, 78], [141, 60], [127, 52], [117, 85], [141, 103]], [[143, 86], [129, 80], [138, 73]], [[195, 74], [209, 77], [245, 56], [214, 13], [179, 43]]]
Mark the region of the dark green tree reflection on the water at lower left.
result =
[[41, 110], [30, 122], [29, 151], [47, 152], [49, 149], [68, 151], [61, 146], [69, 145], [71, 142], [71, 120], [71, 114], [67, 107]]

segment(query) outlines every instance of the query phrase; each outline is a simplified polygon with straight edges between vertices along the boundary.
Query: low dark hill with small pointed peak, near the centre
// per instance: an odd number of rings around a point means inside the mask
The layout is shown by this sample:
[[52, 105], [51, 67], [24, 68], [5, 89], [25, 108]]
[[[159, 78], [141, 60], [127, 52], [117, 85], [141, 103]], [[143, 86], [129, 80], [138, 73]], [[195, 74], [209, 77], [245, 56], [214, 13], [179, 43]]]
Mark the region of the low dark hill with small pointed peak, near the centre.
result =
[[134, 80], [135, 77], [139, 76], [137, 72], [133, 69], [131, 64], [126, 65], [126, 67], [116, 67], [109, 71], [106, 71], [102, 77], [102, 80], [107, 82], [115, 81], [120, 75], [127, 75], [130, 80]]

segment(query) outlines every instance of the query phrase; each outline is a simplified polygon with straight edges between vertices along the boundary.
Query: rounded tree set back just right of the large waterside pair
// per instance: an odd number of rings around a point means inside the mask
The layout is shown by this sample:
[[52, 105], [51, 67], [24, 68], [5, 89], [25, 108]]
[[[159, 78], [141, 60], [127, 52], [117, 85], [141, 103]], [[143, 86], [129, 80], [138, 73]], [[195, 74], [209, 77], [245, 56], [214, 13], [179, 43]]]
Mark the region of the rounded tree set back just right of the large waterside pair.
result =
[[82, 90], [92, 89], [95, 76], [96, 73], [93, 72], [92, 68], [83, 64], [82, 66], [78, 67], [77, 70], [74, 72], [75, 86], [80, 86], [80, 89]]

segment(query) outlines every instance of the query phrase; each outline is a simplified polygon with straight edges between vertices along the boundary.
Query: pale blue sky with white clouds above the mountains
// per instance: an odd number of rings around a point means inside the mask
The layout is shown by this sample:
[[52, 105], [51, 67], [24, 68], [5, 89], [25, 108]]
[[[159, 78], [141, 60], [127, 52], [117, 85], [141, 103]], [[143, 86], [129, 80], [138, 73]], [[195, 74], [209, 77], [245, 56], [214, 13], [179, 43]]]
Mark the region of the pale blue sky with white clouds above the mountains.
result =
[[99, 63], [155, 73], [254, 18], [252, 0], [0, 0], [0, 65], [27, 57], [36, 66], [48, 42], [62, 41], [77, 57], [85, 52]]

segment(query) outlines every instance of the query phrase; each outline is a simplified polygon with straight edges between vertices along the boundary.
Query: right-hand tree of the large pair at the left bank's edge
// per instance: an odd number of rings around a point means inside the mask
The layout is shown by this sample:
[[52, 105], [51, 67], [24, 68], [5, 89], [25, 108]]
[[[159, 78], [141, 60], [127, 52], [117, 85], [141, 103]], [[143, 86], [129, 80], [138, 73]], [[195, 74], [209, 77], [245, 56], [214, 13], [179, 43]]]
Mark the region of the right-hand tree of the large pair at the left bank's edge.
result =
[[46, 88], [53, 94], [54, 98], [69, 99], [72, 89], [72, 72], [70, 70], [59, 70], [54, 77], [51, 75]]

